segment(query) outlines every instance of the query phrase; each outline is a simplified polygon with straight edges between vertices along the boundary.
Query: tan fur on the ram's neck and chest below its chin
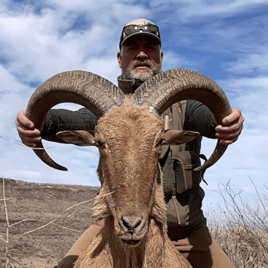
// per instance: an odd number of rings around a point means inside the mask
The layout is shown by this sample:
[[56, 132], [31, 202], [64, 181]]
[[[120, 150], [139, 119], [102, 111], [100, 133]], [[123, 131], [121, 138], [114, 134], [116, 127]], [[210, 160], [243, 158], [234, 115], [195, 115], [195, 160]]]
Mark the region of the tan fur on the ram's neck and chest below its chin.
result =
[[[162, 246], [163, 233], [161, 227], [154, 220], [148, 233], [146, 245], [138, 248], [126, 248], [122, 243], [111, 235], [113, 230], [106, 222], [102, 232], [95, 237], [89, 247], [78, 259], [75, 268], [190, 268], [188, 261], [178, 252], [170, 240], [166, 242], [166, 254], [163, 262]], [[113, 233], [114, 234], [114, 233]], [[146, 252], [146, 256], [140, 256]], [[140, 257], [146, 259], [146, 266], [139, 262]]]

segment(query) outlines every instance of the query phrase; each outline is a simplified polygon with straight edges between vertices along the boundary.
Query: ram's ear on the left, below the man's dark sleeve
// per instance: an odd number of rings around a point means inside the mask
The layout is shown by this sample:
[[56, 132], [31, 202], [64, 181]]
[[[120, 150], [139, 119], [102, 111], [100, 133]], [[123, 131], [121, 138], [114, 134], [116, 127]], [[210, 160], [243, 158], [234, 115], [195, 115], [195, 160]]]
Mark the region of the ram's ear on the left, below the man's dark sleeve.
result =
[[56, 135], [59, 139], [77, 146], [96, 145], [94, 138], [94, 131], [65, 130], [57, 132]]

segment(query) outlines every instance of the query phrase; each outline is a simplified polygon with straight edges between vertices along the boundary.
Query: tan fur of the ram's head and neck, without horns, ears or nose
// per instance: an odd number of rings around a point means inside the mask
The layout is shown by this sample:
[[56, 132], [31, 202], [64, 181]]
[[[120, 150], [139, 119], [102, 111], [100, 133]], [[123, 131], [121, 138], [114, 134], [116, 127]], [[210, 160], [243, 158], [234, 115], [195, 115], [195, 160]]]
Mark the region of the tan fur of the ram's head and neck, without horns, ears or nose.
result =
[[[95, 141], [100, 150], [98, 175], [102, 188], [93, 216], [105, 219], [105, 226], [81, 254], [75, 268], [191, 267], [167, 239], [158, 165], [161, 135], [161, 118], [131, 101], [99, 119]], [[143, 219], [135, 230], [141, 238], [135, 247], [122, 241], [133, 235], [121, 222], [126, 215]]]

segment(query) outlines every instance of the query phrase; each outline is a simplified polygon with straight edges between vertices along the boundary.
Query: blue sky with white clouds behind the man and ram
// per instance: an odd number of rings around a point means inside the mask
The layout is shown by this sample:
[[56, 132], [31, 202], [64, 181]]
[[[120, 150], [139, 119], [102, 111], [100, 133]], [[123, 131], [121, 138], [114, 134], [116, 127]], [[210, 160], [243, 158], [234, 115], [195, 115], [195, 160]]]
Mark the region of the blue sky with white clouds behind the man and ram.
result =
[[[240, 139], [206, 172], [204, 207], [221, 203], [215, 191], [231, 179], [235, 192], [254, 200], [249, 178], [265, 193], [268, 165], [268, 0], [122, 1], [42, 0], [0, 3], [0, 176], [33, 182], [99, 185], [96, 148], [45, 142], [68, 167], [45, 166], [19, 146], [14, 120], [43, 81], [86, 70], [116, 84], [122, 27], [141, 17], [160, 27], [163, 70], [189, 68], [215, 80], [246, 121]], [[73, 104], [59, 107], [77, 109]], [[9, 142], [6, 139], [12, 141]], [[214, 140], [205, 139], [211, 153]]]

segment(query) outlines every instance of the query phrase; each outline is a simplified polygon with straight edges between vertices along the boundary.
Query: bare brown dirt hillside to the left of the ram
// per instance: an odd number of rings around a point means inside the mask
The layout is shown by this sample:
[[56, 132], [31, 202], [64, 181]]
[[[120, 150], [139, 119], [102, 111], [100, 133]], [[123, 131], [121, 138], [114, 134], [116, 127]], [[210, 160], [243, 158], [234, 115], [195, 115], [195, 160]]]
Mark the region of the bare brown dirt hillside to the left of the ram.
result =
[[[8, 237], [11, 263], [16, 268], [54, 267], [91, 225], [91, 208], [99, 188], [11, 179], [5, 179], [4, 182], [11, 225]], [[71, 208], [86, 200], [91, 201]], [[52, 221], [53, 224], [47, 225]], [[40, 228], [44, 225], [44, 228]], [[40, 229], [31, 232], [37, 228]], [[2, 240], [6, 240], [6, 232], [3, 179], [0, 178], [0, 267], [5, 267], [6, 248]]]

